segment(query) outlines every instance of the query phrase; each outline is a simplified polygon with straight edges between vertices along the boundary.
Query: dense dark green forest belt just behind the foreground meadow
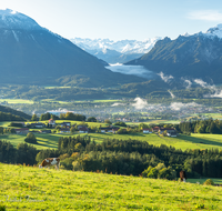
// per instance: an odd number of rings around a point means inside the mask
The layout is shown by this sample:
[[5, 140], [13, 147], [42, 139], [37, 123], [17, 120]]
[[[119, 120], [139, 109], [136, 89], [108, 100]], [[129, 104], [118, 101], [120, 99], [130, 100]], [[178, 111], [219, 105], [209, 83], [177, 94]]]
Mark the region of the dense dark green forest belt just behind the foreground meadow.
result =
[[[38, 161], [49, 157], [51, 151], [38, 153]], [[179, 177], [185, 170], [189, 177], [222, 177], [222, 151], [178, 150], [138, 140], [103, 140], [101, 143], [90, 138], [60, 138], [58, 150], [61, 164], [69, 170], [102, 171], [118, 174], [143, 174], [144, 177]], [[162, 163], [162, 169], [153, 170]], [[155, 168], [157, 169], [157, 168]], [[151, 171], [152, 170], [152, 171]], [[165, 173], [165, 174], [164, 174]]]

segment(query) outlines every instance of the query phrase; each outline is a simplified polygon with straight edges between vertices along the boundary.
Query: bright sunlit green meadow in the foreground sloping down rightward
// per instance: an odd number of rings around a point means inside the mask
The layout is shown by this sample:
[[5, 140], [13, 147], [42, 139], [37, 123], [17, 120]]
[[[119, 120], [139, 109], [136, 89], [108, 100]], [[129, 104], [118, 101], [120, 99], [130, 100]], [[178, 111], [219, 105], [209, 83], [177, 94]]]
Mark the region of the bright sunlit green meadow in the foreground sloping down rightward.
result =
[[7, 210], [222, 210], [222, 188], [0, 163]]

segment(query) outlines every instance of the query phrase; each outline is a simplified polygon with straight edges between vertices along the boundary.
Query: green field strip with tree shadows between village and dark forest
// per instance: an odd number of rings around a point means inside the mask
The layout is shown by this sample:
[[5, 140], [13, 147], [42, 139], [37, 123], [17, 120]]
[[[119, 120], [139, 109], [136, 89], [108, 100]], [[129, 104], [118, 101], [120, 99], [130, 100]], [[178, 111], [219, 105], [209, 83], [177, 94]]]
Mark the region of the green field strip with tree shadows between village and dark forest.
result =
[[[93, 124], [93, 123], [92, 123]], [[36, 133], [39, 144], [33, 144], [37, 149], [57, 149], [60, 137], [72, 137], [72, 135], [88, 135], [92, 141], [102, 142], [104, 139], [119, 139], [119, 140], [139, 140], [148, 141], [153, 145], [172, 145], [175, 149], [219, 149], [222, 150], [222, 134], [199, 134], [192, 133], [191, 135], [179, 135], [176, 138], [158, 137], [157, 134], [113, 134], [113, 133], [61, 133], [61, 134], [41, 134]], [[10, 141], [14, 147], [20, 142], [24, 142], [26, 134], [1, 134], [1, 140]]]

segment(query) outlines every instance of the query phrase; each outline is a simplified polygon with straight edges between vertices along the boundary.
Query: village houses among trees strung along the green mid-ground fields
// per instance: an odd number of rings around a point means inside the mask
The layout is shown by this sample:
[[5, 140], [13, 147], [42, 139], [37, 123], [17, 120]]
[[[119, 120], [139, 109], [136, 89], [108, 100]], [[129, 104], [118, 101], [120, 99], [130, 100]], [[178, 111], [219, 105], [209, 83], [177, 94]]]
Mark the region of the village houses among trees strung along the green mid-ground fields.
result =
[[141, 128], [140, 127], [118, 127], [118, 125], [112, 125], [109, 124], [107, 127], [102, 127], [101, 124], [98, 124], [99, 127], [90, 127], [88, 125], [87, 122], [80, 122], [80, 123], [72, 123], [72, 122], [60, 122], [57, 123], [57, 120], [50, 119], [48, 122], [36, 122], [36, 123], [24, 123], [21, 122], [19, 123], [22, 127], [21, 128], [16, 128], [14, 133], [17, 134], [28, 134], [29, 132], [33, 133], [113, 133], [113, 134], [124, 134], [124, 133], [133, 133], [134, 132], [143, 132], [144, 134], [147, 133], [157, 133], [157, 134], [162, 134], [162, 135], [168, 135], [168, 137], [176, 137], [176, 130], [174, 128], [163, 128], [163, 127], [149, 127], [147, 128], [147, 124], [143, 124]]

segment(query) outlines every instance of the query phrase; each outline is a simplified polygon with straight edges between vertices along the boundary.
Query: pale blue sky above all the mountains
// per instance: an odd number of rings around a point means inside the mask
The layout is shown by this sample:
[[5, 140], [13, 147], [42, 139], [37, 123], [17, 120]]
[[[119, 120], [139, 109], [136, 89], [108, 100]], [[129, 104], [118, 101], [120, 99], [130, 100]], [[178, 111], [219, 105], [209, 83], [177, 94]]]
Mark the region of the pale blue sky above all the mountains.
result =
[[221, 0], [0, 0], [6, 8], [67, 39], [175, 39], [222, 23]]

